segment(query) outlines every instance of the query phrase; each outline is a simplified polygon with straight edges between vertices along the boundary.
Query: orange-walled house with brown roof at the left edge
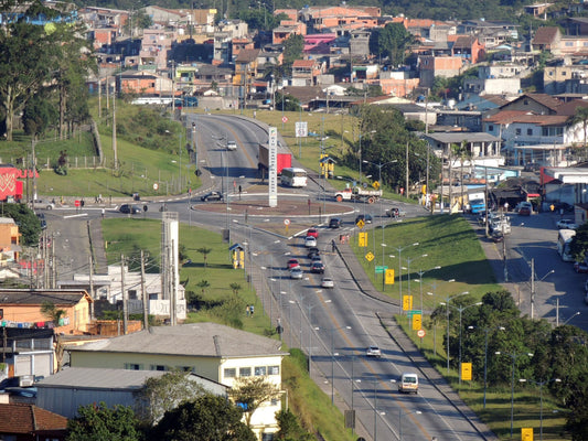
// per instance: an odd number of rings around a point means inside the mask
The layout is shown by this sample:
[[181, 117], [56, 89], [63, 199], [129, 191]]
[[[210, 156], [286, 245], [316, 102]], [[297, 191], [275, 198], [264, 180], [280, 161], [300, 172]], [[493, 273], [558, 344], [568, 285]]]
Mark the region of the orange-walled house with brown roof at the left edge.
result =
[[[0, 289], [3, 323], [17, 327], [54, 327], [56, 332], [82, 334], [89, 326], [92, 299], [84, 290]], [[53, 323], [41, 313], [44, 303], [52, 303], [64, 314]]]

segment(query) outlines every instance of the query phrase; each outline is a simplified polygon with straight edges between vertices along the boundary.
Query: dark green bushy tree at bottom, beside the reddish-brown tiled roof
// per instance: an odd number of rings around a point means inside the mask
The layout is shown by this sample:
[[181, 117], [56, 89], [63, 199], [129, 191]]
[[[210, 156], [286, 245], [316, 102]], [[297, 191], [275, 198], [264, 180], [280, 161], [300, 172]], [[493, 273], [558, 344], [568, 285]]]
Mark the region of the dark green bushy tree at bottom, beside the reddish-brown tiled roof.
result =
[[105, 402], [81, 406], [78, 416], [67, 421], [67, 441], [137, 441], [140, 432], [130, 407]]

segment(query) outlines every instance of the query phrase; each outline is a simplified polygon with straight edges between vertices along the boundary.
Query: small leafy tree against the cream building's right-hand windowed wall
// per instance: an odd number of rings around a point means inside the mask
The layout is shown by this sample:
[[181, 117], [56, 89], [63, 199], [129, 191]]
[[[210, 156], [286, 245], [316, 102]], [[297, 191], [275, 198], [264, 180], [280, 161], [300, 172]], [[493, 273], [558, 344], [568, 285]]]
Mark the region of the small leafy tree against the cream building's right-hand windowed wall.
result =
[[228, 391], [231, 399], [243, 407], [247, 427], [259, 406], [279, 395], [279, 388], [265, 377], [239, 377]]

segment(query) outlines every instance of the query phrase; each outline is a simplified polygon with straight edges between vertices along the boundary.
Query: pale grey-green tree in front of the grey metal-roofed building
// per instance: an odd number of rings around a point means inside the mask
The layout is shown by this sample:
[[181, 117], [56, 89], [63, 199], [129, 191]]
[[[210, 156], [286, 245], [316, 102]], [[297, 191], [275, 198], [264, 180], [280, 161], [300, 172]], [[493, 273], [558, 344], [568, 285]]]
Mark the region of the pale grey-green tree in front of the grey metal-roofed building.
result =
[[138, 418], [153, 426], [180, 402], [194, 400], [203, 394], [202, 386], [191, 380], [190, 374], [184, 372], [171, 372], [161, 377], [148, 378], [135, 397], [138, 408], [141, 409]]

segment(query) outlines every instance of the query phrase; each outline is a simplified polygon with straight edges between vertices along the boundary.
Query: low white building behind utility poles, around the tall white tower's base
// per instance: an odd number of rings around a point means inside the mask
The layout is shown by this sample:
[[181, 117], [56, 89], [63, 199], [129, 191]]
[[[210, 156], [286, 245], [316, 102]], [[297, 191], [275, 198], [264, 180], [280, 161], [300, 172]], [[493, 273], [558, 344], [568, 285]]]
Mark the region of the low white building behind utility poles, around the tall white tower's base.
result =
[[[57, 286], [65, 289], [84, 289], [89, 292], [92, 283], [96, 300], [107, 300], [111, 304], [122, 305], [122, 276], [129, 314], [142, 314], [143, 299], [141, 292], [145, 288], [148, 313], [159, 318], [170, 316], [172, 305], [170, 299], [163, 299], [160, 273], [147, 272], [141, 276], [139, 271], [129, 271], [127, 266], [121, 272], [120, 265], [109, 265], [106, 275], [93, 275], [90, 280], [90, 276], [87, 273], [74, 273], [73, 280], [58, 280]], [[178, 320], [185, 320], [185, 289], [182, 284], [178, 284], [175, 312]]]

